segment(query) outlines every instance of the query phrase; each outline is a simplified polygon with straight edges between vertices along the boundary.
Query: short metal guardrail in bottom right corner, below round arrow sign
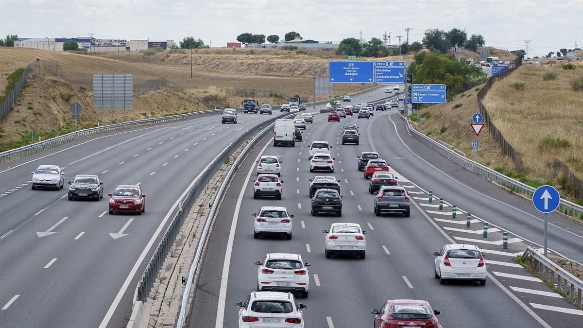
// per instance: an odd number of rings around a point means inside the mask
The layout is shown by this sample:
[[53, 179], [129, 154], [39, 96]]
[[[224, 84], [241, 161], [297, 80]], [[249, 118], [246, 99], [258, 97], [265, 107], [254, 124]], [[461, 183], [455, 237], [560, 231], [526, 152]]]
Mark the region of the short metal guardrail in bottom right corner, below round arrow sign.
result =
[[[528, 256], [539, 262], [539, 277], [550, 282], [553, 286], [556, 285], [558, 289], [562, 289], [563, 294], [570, 296], [571, 303], [581, 308], [583, 281], [577, 279], [573, 274], [568, 273], [564, 268], [557, 266], [556, 263], [547, 259], [543, 254], [536, 252], [531, 246], [528, 246], [524, 253], [522, 253], [521, 260], [524, 262]], [[577, 289], [577, 303], [575, 303], [575, 289]]]

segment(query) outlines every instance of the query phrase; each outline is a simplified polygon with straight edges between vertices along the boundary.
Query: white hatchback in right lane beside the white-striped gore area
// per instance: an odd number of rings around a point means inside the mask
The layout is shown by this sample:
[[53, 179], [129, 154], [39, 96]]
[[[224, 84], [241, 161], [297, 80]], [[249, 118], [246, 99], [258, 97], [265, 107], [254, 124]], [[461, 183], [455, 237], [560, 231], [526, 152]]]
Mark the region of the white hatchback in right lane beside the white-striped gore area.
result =
[[434, 276], [440, 284], [448, 279], [477, 280], [486, 285], [484, 254], [476, 245], [445, 245], [436, 256]]

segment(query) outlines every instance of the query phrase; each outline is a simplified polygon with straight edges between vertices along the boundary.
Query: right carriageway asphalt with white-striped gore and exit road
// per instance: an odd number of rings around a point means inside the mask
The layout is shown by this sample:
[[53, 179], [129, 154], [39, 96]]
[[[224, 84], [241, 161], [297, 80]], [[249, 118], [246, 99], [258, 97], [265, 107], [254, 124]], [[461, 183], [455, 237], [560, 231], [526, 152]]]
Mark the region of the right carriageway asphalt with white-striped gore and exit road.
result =
[[[359, 125], [360, 145], [340, 145], [342, 125], [348, 122]], [[342, 218], [310, 215], [308, 179], [319, 175], [309, 172], [307, 150], [312, 140], [335, 144], [331, 151], [336, 158], [333, 175], [342, 182]], [[362, 151], [371, 150], [388, 160], [399, 184], [415, 196], [417, 205], [412, 206], [409, 218], [374, 215], [373, 196], [367, 192], [367, 182], [356, 169], [355, 159]], [[282, 155], [282, 200], [252, 197], [250, 180], [255, 177], [255, 160], [260, 155]], [[501, 240], [497, 234], [503, 229], [511, 233], [507, 252], [496, 246], [495, 239], [472, 242], [487, 255], [486, 286], [463, 282], [440, 285], [433, 278], [433, 252], [459, 236], [481, 236], [459, 229], [462, 226], [451, 216], [434, 213], [434, 205], [427, 202], [427, 190], [472, 212], [476, 217], [472, 229], [482, 229], [480, 218], [491, 222], [491, 238]], [[293, 239], [253, 238], [251, 214], [262, 206], [285, 206], [295, 215]], [[550, 249], [583, 261], [583, 227], [559, 214], [550, 217]], [[366, 259], [325, 258], [322, 229], [344, 221], [359, 223], [367, 230]], [[398, 298], [429, 301], [441, 310], [438, 319], [448, 328], [577, 326], [583, 315], [573, 312], [573, 306], [512, 259], [513, 253], [524, 252], [525, 245], [538, 247], [542, 242], [543, 225], [532, 204], [410, 137], [395, 111], [377, 111], [370, 120], [348, 117], [341, 123], [328, 123], [325, 115], [318, 115], [314, 124], [308, 124], [304, 142], [294, 148], [274, 148], [271, 137], [266, 137], [238, 170], [213, 231], [188, 319], [191, 328], [236, 327], [238, 308], [234, 304], [257, 290], [254, 261], [276, 252], [301, 254], [312, 264], [310, 296], [298, 298], [308, 306], [303, 311], [306, 327], [372, 326], [370, 310]]]

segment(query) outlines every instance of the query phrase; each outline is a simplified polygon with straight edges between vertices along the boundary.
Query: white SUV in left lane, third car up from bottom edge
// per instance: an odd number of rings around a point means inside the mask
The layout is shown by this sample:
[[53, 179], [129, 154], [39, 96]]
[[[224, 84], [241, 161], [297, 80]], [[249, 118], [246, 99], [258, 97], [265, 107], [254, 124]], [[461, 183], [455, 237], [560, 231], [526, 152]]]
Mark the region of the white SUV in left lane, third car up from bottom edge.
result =
[[263, 235], [284, 235], [291, 239], [291, 219], [294, 215], [288, 214], [285, 207], [264, 206], [259, 210], [259, 214], [253, 213], [255, 226], [253, 237], [259, 238], [259, 233]]

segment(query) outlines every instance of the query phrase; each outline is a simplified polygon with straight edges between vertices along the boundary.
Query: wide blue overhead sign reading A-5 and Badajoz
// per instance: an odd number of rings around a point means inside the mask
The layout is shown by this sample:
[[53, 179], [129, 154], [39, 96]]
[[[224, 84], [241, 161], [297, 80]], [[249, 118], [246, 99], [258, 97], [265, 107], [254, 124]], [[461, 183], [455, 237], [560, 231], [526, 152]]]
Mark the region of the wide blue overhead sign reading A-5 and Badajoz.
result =
[[331, 61], [328, 63], [328, 81], [331, 83], [372, 83], [374, 62]]

